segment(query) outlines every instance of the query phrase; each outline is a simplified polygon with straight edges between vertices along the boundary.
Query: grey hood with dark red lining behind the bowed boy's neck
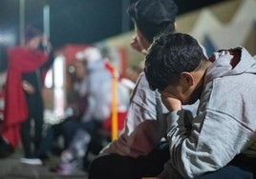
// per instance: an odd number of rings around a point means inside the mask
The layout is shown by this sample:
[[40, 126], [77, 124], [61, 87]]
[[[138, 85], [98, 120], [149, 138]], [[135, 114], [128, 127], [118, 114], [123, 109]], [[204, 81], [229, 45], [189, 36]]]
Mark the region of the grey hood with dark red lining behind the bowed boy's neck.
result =
[[214, 52], [209, 60], [212, 65], [206, 70], [205, 83], [224, 76], [256, 73], [256, 59], [243, 47]]

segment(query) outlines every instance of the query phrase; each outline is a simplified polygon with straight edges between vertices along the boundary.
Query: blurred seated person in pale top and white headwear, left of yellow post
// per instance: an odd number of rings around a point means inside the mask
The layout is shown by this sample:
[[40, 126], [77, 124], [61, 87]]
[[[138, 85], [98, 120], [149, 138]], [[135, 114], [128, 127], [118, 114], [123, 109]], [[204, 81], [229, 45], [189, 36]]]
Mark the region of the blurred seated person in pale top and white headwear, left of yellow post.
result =
[[[87, 48], [78, 52], [76, 59], [77, 63], [87, 62], [87, 86], [75, 86], [80, 92], [86, 93], [87, 103], [86, 110], [79, 119], [81, 128], [76, 129], [68, 149], [61, 153], [59, 165], [53, 169], [62, 174], [82, 170], [84, 165], [86, 168], [84, 159], [87, 159], [88, 152], [98, 152], [102, 148], [102, 135], [99, 130], [103, 129], [104, 122], [111, 116], [112, 74], [106, 69], [100, 51], [96, 48]], [[76, 67], [76, 70], [79, 68]]]

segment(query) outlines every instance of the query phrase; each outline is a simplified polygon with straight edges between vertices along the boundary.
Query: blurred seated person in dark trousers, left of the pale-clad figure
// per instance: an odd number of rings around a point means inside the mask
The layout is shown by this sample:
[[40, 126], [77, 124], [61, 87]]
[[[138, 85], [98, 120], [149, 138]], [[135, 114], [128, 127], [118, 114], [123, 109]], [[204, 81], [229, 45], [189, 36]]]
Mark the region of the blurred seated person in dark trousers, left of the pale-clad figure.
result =
[[[87, 109], [88, 95], [88, 68], [87, 60], [75, 59], [73, 64], [74, 72], [71, 73], [72, 89], [67, 91], [67, 107], [65, 116], [61, 122], [54, 124], [46, 130], [37, 157], [43, 161], [49, 159], [52, 154], [67, 149], [75, 135], [75, 131], [82, 126], [80, 118]], [[58, 145], [59, 137], [63, 137], [64, 145]], [[59, 154], [59, 153], [58, 153]]]

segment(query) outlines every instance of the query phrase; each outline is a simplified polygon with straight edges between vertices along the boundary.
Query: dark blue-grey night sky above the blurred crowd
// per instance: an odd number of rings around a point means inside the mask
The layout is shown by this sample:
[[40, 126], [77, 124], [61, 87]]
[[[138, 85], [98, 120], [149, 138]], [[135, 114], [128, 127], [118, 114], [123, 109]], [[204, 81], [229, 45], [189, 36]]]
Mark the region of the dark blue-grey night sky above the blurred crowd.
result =
[[[43, 7], [50, 7], [50, 39], [54, 48], [68, 43], [91, 44], [132, 30], [126, 9], [136, 0], [25, 0], [25, 25], [43, 29]], [[224, 0], [175, 0], [179, 14]], [[20, 0], [0, 3], [0, 71], [6, 49], [19, 43]], [[9, 35], [12, 34], [12, 38]]]

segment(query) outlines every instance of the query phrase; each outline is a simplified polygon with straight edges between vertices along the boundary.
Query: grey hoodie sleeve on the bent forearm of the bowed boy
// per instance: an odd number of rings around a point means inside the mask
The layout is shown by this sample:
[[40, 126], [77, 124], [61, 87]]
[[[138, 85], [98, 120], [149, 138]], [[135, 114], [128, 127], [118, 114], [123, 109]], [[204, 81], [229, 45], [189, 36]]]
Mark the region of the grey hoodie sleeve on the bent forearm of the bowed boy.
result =
[[[203, 124], [203, 126], [202, 126]], [[224, 167], [248, 145], [250, 131], [230, 116], [201, 113], [186, 136], [178, 121], [168, 129], [171, 167], [183, 177], [195, 177]]]

